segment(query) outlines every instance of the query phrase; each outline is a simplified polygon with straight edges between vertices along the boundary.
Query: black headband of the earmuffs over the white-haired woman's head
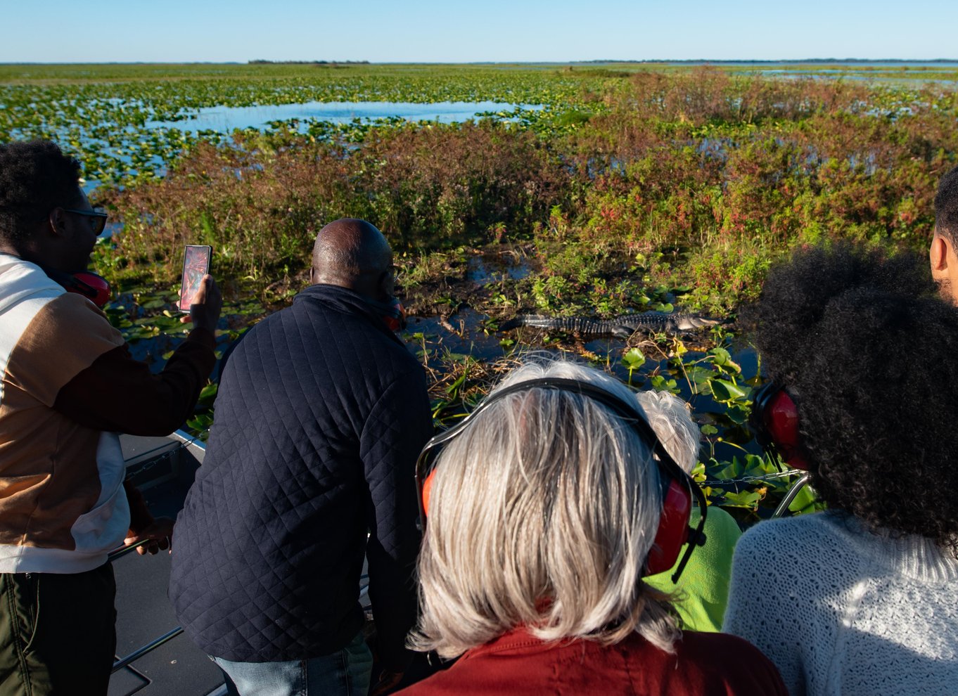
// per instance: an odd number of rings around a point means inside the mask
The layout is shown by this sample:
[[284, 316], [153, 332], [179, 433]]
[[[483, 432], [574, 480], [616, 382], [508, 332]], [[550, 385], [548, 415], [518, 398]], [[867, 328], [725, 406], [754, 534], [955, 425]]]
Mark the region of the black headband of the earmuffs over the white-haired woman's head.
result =
[[[652, 430], [652, 427], [649, 424], [649, 421], [645, 419], [635, 407], [629, 406], [623, 399], [619, 398], [613, 393], [607, 392], [601, 387], [596, 387], [595, 385], [589, 384], [588, 382], [582, 382], [578, 379], [567, 379], [564, 377], [540, 377], [538, 379], [529, 379], [517, 384], [510, 385], [509, 387], [504, 387], [497, 392], [493, 392], [485, 398], [477, 407], [476, 410], [469, 414], [465, 420], [461, 423], [454, 425], [449, 428], [445, 433], [440, 433], [433, 438], [430, 438], [428, 442], [425, 443], [425, 446], [422, 448], [420, 453], [419, 460], [416, 461], [416, 480], [418, 483], [422, 483], [425, 477], [428, 475], [430, 468], [431, 453], [435, 451], [441, 445], [444, 445], [449, 440], [458, 436], [468, 425], [468, 423], [477, 415], [481, 414], [491, 404], [496, 403], [497, 401], [509, 396], [513, 393], [528, 392], [533, 389], [552, 389], [559, 392], [570, 392], [578, 393], [582, 396], [587, 396], [593, 401], [597, 401], [606, 408], [610, 409], [615, 415], [618, 415], [620, 418], [625, 420], [629, 426], [638, 434], [642, 441], [650, 448], [651, 453], [654, 455], [656, 464], [659, 467], [659, 471], [662, 474], [665, 474], [670, 479], [675, 482], [685, 483], [688, 487], [692, 496], [696, 498], [696, 501], [699, 505], [700, 517], [698, 520], [698, 525], [695, 529], [690, 529], [688, 546], [685, 550], [685, 553], [682, 555], [682, 560], [678, 564], [678, 567], [673, 573], [672, 579], [673, 582], [677, 582], [678, 577], [682, 574], [682, 571], [685, 570], [685, 565], [689, 562], [689, 558], [692, 555], [692, 551], [696, 546], [701, 546], [705, 542], [705, 535], [702, 532], [702, 529], [705, 527], [705, 516], [708, 511], [708, 504], [705, 500], [705, 494], [702, 493], [701, 488], [698, 487], [696, 482], [689, 476], [686, 471], [680, 467], [672, 456], [666, 450], [665, 446], [655, 435], [655, 431]], [[422, 485], [420, 485], [422, 489]], [[662, 501], [662, 504], [665, 504], [665, 501]], [[419, 505], [420, 505], [420, 520], [422, 528], [425, 528], [425, 509], [422, 505], [422, 494], [419, 496]]]

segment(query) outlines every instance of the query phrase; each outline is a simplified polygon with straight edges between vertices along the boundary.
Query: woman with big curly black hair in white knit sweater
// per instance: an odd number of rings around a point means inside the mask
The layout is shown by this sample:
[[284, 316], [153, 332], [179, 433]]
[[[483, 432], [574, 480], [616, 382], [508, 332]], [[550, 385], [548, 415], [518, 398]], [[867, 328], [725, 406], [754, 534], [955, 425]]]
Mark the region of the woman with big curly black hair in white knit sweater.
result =
[[802, 250], [746, 313], [829, 510], [745, 533], [724, 630], [792, 696], [958, 688], [958, 309], [926, 264]]

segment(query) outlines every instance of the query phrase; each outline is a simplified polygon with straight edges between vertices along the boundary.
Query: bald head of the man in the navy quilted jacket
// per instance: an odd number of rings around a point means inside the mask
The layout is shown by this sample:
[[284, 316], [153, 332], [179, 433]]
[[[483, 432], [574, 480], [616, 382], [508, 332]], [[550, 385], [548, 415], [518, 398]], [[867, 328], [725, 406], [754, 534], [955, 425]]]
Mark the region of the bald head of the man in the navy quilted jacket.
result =
[[393, 250], [374, 225], [344, 217], [331, 222], [316, 236], [310, 279], [313, 283], [346, 287], [378, 300], [383, 294], [380, 288], [383, 275], [392, 263]]

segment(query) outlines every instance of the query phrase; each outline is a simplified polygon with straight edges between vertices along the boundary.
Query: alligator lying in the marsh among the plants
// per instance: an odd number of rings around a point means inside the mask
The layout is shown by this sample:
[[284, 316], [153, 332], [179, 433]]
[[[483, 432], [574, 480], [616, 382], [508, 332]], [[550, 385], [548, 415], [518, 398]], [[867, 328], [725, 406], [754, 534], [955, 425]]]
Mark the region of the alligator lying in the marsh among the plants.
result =
[[538, 328], [552, 328], [559, 331], [570, 331], [589, 336], [618, 336], [628, 338], [636, 331], [667, 331], [682, 333], [693, 331], [702, 326], [715, 326], [718, 320], [705, 319], [696, 314], [669, 314], [668, 312], [641, 312], [639, 314], [623, 314], [613, 319], [596, 319], [594, 317], [546, 317], [541, 314], [519, 314], [505, 324], [500, 330], [509, 330], [518, 326], [536, 326]]

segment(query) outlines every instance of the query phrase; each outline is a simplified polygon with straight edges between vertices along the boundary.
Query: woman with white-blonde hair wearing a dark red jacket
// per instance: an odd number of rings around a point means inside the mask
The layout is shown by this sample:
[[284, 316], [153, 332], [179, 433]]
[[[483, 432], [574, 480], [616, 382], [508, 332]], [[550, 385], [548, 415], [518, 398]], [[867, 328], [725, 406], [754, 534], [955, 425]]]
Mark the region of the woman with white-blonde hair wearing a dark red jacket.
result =
[[680, 632], [642, 582], [669, 515], [625, 385], [533, 363], [487, 401], [433, 466], [410, 640], [463, 657], [403, 693], [786, 693], [756, 648]]

